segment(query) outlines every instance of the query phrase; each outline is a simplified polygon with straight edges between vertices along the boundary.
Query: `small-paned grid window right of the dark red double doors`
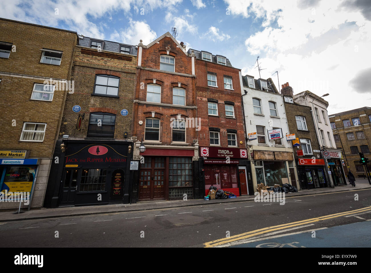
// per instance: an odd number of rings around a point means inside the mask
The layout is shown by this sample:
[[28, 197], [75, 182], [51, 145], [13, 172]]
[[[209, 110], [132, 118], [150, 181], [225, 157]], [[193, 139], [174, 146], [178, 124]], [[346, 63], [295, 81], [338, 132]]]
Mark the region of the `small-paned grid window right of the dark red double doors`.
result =
[[169, 187], [193, 186], [192, 158], [169, 157]]

